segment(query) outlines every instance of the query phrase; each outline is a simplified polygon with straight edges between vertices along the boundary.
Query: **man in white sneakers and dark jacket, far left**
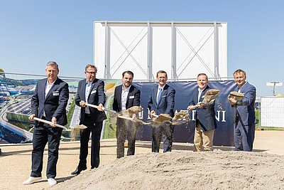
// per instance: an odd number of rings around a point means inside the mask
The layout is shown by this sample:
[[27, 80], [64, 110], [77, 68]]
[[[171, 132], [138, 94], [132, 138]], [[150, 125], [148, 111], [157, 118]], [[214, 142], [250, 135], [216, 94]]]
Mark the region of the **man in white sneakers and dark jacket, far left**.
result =
[[[66, 125], [66, 106], [69, 98], [68, 84], [58, 78], [58, 64], [54, 61], [48, 62], [45, 73], [48, 78], [38, 80], [31, 98], [31, 115], [34, 117], [53, 122], [53, 124]], [[48, 142], [48, 167], [46, 176], [50, 186], [55, 185], [56, 164], [58, 162], [58, 149], [62, 128], [50, 126], [43, 122], [35, 122], [33, 130], [33, 152], [31, 176], [23, 184], [33, 184], [41, 179], [43, 170], [43, 151]]]

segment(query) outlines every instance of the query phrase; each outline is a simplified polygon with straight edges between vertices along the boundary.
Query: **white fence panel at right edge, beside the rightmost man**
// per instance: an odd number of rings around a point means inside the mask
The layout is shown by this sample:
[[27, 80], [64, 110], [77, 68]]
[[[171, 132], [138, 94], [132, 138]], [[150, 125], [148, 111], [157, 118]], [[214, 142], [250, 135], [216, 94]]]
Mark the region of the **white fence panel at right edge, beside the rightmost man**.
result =
[[284, 127], [284, 97], [261, 97], [261, 126]]

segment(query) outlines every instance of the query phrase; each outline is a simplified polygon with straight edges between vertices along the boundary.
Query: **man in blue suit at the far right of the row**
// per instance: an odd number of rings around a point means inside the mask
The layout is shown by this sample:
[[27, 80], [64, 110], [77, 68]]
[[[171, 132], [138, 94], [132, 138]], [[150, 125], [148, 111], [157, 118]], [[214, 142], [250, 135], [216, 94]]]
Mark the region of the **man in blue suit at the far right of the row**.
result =
[[256, 88], [246, 82], [246, 72], [238, 69], [234, 73], [236, 81], [235, 91], [244, 94], [243, 100], [231, 103], [236, 108], [234, 123], [234, 142], [236, 151], [253, 150], [253, 140], [256, 130], [256, 115], [254, 112], [254, 102], [256, 102]]

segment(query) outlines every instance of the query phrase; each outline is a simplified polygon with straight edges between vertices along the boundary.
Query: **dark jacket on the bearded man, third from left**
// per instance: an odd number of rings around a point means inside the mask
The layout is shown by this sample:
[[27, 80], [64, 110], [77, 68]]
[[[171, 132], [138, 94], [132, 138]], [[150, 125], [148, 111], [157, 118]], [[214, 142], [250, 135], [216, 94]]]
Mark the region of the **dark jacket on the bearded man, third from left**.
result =
[[[121, 112], [121, 92], [122, 85], [116, 86], [114, 90], [114, 103], [112, 104], [112, 109], [116, 112]], [[140, 95], [140, 90], [131, 85], [129, 95], [126, 98], [126, 109], [132, 106], [140, 106]]]

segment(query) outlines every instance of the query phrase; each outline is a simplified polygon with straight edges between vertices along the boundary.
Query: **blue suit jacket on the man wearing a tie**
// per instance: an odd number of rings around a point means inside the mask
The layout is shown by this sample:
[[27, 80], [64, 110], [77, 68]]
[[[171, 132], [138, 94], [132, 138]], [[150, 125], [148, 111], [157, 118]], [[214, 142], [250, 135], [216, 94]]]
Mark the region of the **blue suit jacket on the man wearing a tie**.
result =
[[151, 93], [148, 100], [148, 108], [150, 111], [155, 110], [156, 115], [165, 113], [174, 116], [173, 108], [175, 107], [175, 89], [165, 84], [163, 93], [161, 94], [160, 101], [156, 102], [158, 92], [158, 85], [151, 88]]

